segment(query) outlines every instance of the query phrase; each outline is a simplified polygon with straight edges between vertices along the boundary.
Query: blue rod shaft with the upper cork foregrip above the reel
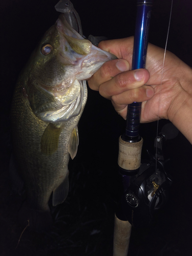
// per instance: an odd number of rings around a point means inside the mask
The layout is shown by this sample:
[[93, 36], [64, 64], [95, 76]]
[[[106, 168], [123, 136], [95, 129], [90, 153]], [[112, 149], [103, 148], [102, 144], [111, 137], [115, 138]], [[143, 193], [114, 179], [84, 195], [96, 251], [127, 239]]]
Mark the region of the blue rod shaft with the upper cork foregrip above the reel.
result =
[[[132, 70], [145, 68], [150, 28], [152, 0], [137, 0], [137, 18], [134, 37]], [[123, 170], [137, 170], [141, 163], [143, 139], [139, 135], [141, 103], [133, 102], [127, 106], [126, 129], [119, 139], [118, 165]], [[126, 153], [122, 153], [126, 148]], [[125, 155], [124, 155], [125, 154]], [[131, 161], [130, 161], [131, 160]]]

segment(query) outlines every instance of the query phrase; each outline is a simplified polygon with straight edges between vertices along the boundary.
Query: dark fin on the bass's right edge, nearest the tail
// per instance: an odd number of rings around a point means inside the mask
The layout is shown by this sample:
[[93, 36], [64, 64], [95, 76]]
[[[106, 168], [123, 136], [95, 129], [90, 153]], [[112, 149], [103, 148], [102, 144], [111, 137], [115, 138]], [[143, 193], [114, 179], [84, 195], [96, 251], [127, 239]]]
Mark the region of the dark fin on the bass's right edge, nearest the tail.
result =
[[69, 192], [69, 171], [65, 177], [65, 180], [53, 191], [53, 206], [64, 202]]

